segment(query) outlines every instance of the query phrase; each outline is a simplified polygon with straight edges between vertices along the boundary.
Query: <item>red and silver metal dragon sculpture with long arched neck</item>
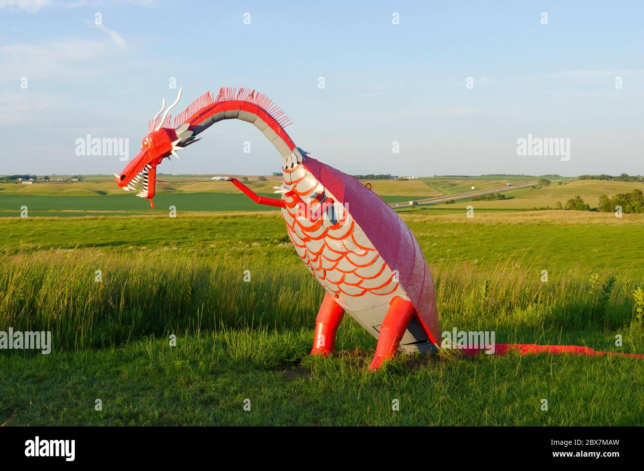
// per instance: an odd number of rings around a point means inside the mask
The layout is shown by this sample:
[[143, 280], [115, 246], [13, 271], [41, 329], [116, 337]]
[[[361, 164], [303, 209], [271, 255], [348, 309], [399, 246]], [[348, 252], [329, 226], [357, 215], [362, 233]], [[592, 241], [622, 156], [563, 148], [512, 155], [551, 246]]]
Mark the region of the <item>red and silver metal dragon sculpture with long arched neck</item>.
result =
[[[137, 196], [149, 199], [154, 208], [156, 167], [164, 158], [178, 157], [177, 151], [197, 142], [198, 134], [222, 120], [254, 124], [282, 156], [283, 183], [274, 187], [281, 198], [259, 196], [235, 178], [221, 179], [231, 181], [256, 203], [281, 208], [290, 241], [325, 289], [311, 354], [334, 350], [345, 312], [377, 338], [372, 370], [399, 349], [437, 351], [439, 319], [430, 270], [411, 230], [383, 199], [297, 147], [285, 131], [289, 118], [265, 95], [244, 88], [222, 88], [216, 96], [207, 92], [171, 125], [169, 111], [180, 97], [181, 89], [167, 109], [164, 98], [149, 121], [140, 153], [114, 174], [122, 189], [138, 190]], [[584, 347], [497, 344], [496, 352], [503, 355], [510, 348], [520, 353], [583, 353], [578, 349]]]

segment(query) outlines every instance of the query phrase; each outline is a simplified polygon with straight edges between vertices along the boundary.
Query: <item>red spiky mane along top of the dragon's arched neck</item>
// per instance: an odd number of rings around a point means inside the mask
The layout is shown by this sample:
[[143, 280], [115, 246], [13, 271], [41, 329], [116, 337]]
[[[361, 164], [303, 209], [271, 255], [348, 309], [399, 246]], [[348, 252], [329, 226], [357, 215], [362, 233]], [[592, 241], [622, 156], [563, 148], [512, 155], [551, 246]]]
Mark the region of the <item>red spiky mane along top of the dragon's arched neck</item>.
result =
[[[231, 100], [238, 100], [243, 102], [252, 103], [265, 111], [268, 115], [272, 116], [281, 127], [287, 127], [292, 124], [289, 116], [285, 113], [271, 100], [269, 97], [263, 93], [255, 93], [255, 90], [250, 90], [247, 88], [231, 88], [231, 87], [222, 87], [219, 89], [219, 93], [216, 97], [214, 94], [207, 91], [201, 97], [196, 98], [191, 104], [189, 104], [184, 111], [176, 115], [174, 126], [179, 127], [185, 123], [193, 123], [193, 119], [200, 115], [202, 110], [205, 107], [211, 106], [213, 104], [218, 104], [222, 102], [227, 102]], [[159, 125], [161, 121], [161, 116], [157, 116], [155, 119], [150, 120], [147, 123], [150, 132], [152, 132]], [[163, 122], [162, 127], [170, 127], [171, 115], [166, 116], [166, 119]]]

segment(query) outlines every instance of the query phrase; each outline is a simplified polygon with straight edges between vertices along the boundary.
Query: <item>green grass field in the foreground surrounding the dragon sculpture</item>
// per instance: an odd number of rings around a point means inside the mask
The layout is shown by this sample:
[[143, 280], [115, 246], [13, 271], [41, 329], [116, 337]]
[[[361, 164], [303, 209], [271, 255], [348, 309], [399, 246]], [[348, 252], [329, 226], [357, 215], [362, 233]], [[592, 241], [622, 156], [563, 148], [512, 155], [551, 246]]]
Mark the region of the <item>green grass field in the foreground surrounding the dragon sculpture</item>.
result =
[[[442, 331], [644, 352], [632, 302], [643, 216], [402, 217], [430, 264]], [[283, 224], [276, 212], [181, 207], [176, 218], [3, 219], [0, 330], [51, 330], [53, 347], [0, 351], [0, 424], [641, 425], [636, 358], [444, 350], [368, 373], [375, 339], [349, 318], [336, 355], [310, 358], [323, 290]]]

